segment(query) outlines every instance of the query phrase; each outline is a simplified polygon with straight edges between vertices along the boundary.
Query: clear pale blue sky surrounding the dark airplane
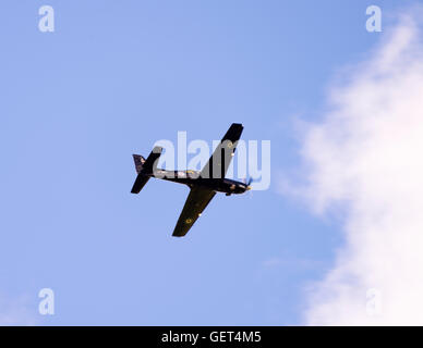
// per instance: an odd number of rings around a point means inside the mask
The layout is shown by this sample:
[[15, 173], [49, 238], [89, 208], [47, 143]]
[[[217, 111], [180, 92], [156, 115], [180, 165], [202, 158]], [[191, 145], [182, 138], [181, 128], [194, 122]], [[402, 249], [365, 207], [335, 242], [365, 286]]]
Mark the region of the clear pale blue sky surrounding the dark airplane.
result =
[[[333, 78], [384, 35], [365, 30], [367, 5], [388, 28], [412, 2], [50, 0], [44, 34], [46, 2], [1, 1], [0, 310], [45, 325], [301, 324], [342, 235], [279, 192], [299, 163], [293, 121], [318, 120]], [[131, 195], [131, 154], [232, 122], [271, 141], [270, 188], [217, 196], [171, 238], [189, 190]]]

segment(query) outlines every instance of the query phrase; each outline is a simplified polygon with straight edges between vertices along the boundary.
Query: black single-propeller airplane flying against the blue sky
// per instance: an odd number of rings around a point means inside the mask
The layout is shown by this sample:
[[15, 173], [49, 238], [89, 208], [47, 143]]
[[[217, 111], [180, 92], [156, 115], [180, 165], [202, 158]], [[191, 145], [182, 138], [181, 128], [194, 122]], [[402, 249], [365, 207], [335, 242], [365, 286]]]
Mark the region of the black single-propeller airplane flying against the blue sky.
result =
[[191, 188], [174, 227], [173, 237], [186, 235], [216, 192], [225, 192], [227, 196], [240, 195], [252, 188], [250, 186], [251, 179], [249, 183], [242, 183], [225, 178], [243, 128], [242, 124], [233, 123], [200, 172], [157, 169], [162, 152], [161, 147], [155, 147], [147, 159], [144, 159], [141, 154], [133, 154], [137, 176], [131, 189], [132, 194], [140, 194], [152, 177], [184, 184]]

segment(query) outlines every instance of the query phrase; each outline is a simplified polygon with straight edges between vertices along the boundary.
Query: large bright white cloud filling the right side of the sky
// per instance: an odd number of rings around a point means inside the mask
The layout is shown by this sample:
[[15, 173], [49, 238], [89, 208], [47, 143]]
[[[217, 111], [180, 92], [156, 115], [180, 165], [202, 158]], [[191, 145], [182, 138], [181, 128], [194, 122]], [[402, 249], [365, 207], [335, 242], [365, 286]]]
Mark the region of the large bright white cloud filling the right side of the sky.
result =
[[303, 194], [318, 212], [342, 207], [346, 237], [310, 289], [307, 324], [423, 325], [423, 16], [413, 12], [384, 28], [305, 129]]

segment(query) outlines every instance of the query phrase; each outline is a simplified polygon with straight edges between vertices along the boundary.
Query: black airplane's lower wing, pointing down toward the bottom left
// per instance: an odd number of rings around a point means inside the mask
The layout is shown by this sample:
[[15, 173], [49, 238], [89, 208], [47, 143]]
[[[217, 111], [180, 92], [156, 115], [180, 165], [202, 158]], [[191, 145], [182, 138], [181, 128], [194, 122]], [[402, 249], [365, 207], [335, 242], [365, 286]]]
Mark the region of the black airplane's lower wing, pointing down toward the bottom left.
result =
[[173, 237], [183, 237], [198, 219], [216, 192], [209, 188], [194, 186], [186, 198], [185, 206], [174, 227]]

